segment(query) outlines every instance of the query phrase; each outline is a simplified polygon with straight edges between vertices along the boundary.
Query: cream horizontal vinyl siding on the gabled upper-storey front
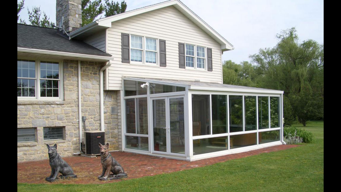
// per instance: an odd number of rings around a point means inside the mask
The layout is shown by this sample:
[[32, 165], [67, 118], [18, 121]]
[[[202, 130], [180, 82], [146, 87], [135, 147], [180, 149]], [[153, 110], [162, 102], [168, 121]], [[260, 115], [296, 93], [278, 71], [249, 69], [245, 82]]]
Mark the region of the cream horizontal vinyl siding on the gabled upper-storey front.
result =
[[[121, 33], [165, 40], [167, 67], [122, 63]], [[107, 29], [107, 42], [107, 53], [114, 58], [114, 63], [109, 67], [108, 73], [111, 90], [121, 90], [122, 76], [200, 79], [206, 82], [222, 83], [220, 44], [173, 6], [113, 22], [112, 27]], [[179, 68], [179, 42], [205, 47], [205, 50], [207, 47], [212, 48], [213, 71]]]

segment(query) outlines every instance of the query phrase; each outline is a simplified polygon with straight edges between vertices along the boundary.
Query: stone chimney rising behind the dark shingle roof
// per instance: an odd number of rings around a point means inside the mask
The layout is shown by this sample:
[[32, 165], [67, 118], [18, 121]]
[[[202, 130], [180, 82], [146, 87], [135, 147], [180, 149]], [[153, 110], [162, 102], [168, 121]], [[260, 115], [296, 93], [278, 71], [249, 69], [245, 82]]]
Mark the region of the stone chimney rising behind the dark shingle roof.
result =
[[82, 26], [81, 0], [57, 0], [56, 2], [56, 25], [64, 17], [63, 25], [67, 33], [75, 31]]

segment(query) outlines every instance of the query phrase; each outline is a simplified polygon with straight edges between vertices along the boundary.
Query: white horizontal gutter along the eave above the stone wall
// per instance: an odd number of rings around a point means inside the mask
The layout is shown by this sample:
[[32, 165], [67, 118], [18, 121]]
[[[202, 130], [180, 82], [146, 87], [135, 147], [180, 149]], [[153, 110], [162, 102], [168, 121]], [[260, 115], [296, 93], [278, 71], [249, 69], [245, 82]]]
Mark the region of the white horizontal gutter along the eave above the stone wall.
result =
[[17, 51], [19, 51], [19, 52], [26, 52], [26, 53], [37, 53], [37, 54], [47, 54], [47, 55], [79, 57], [79, 58], [82, 58], [82, 59], [84, 59], [84, 58], [87, 58], [87, 59], [98, 59], [98, 60], [110, 60], [110, 59], [113, 59], [111, 56], [88, 55], [88, 54], [70, 53], [70, 52], [54, 51], [54, 50], [46, 50], [46, 49], [32, 49], [32, 48], [24, 48], [24, 47], [18, 47]]

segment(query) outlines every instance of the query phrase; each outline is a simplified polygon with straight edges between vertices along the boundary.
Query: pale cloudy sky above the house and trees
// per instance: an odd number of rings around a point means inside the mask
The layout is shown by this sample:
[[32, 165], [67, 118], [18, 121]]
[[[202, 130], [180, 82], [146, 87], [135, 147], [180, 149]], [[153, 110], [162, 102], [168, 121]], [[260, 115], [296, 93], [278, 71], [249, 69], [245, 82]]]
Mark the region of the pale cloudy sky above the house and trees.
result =
[[[19, 3], [21, 0], [17, 1]], [[164, 1], [125, 0], [126, 11]], [[180, 1], [233, 45], [234, 50], [224, 51], [223, 62], [250, 62], [250, 55], [257, 54], [261, 48], [276, 46], [276, 34], [292, 27], [296, 28], [300, 41], [312, 39], [319, 44], [324, 43], [323, 0]], [[102, 2], [104, 3], [104, 0]], [[50, 21], [56, 23], [55, 0], [25, 0], [19, 18], [29, 24], [27, 9], [32, 11], [33, 6], [40, 6], [40, 10], [50, 17]], [[104, 14], [100, 17], [103, 18]]]

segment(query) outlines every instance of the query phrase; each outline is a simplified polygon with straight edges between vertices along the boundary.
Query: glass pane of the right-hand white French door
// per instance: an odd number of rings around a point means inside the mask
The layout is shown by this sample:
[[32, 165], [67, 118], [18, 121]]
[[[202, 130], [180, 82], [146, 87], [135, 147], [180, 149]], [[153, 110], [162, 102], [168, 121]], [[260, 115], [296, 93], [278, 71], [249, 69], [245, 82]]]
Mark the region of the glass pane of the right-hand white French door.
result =
[[185, 153], [183, 98], [169, 99], [170, 152]]

